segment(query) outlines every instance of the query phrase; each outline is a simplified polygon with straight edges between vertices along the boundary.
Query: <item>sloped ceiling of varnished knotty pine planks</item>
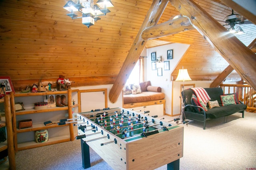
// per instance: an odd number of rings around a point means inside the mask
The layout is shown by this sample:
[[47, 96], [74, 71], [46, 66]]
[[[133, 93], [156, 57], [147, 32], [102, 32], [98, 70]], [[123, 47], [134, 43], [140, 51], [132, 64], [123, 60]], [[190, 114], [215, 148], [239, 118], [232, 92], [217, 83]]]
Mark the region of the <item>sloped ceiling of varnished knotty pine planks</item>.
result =
[[[152, 0], [112, 0], [111, 12], [87, 28], [81, 19], [66, 16], [66, 2], [0, 1], [0, 76], [10, 76], [16, 89], [20, 80], [56, 80], [59, 74], [71, 79], [110, 76], [114, 81], [152, 4]], [[232, 9], [218, 1], [195, 2], [216, 20], [231, 14]], [[176, 15], [180, 13], [168, 3], [158, 23]], [[238, 39], [248, 46], [256, 38], [256, 25], [241, 27], [245, 34]], [[146, 47], [166, 43], [190, 44], [174, 73], [184, 66], [191, 75], [219, 74], [229, 65], [196, 29], [150, 40]]]

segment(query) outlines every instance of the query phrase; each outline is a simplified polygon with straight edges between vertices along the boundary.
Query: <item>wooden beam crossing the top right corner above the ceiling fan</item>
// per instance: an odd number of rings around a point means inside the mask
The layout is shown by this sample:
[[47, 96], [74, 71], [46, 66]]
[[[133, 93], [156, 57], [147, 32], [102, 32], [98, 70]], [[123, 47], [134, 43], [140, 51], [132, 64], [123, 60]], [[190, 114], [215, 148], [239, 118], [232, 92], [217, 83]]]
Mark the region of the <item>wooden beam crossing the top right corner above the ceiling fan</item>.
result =
[[[252, 23], [256, 24], [256, 15], [255, 15], [255, 7], [256, 2], [255, 0], [221, 0], [226, 6], [229, 6], [236, 12], [238, 12], [240, 15], [242, 15], [244, 18], [246, 18], [249, 21], [252, 21]], [[239, 4], [238, 4], [239, 3]], [[251, 10], [248, 10], [251, 9]]]

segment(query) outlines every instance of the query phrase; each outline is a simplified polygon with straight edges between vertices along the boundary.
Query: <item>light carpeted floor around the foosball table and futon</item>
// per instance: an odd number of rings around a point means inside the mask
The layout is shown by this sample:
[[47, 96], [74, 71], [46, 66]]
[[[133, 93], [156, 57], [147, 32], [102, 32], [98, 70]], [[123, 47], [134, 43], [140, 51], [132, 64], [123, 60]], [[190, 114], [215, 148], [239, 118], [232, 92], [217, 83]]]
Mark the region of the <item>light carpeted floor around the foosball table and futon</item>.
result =
[[[247, 170], [256, 168], [256, 113], [245, 112], [208, 120], [206, 130], [202, 123], [190, 122], [184, 126], [184, 155], [181, 170]], [[165, 120], [173, 117], [164, 116]], [[160, 117], [158, 117], [160, 118]], [[149, 144], [150, 145], [150, 144]], [[106, 153], [107, 154], [107, 153]], [[91, 168], [112, 170], [90, 150]], [[167, 166], [157, 168], [166, 170]], [[22, 150], [16, 153], [17, 170], [83, 170], [80, 140], [46, 147]]]

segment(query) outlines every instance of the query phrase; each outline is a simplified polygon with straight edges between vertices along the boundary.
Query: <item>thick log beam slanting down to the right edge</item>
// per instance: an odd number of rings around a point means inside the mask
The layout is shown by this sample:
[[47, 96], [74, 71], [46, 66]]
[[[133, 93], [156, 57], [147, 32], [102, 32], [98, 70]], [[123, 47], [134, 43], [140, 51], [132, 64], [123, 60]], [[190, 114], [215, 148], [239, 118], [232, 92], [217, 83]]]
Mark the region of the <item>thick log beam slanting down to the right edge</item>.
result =
[[170, 0], [170, 2], [183, 16], [191, 19], [191, 23], [198, 32], [250, 86], [256, 89], [255, 53], [244, 46], [193, 0]]

